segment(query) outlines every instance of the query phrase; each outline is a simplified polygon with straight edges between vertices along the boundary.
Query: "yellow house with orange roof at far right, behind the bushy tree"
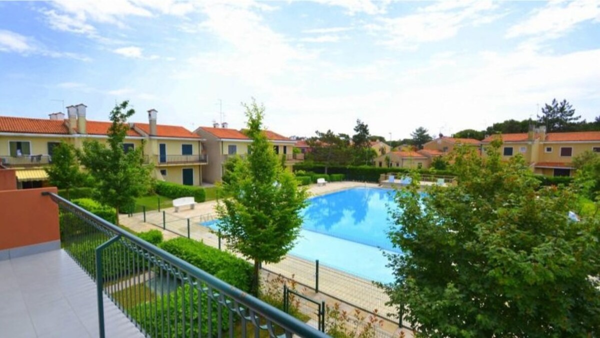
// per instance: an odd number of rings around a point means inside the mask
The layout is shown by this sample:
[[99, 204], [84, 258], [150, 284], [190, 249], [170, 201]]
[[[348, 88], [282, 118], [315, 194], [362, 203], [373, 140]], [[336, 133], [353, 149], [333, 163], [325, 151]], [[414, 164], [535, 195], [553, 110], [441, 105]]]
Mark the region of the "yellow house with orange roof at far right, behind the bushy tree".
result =
[[494, 138], [502, 138], [503, 159], [520, 153], [534, 173], [546, 176], [572, 176], [575, 156], [587, 150], [600, 152], [600, 131], [547, 133], [541, 126], [527, 133], [492, 135], [482, 141], [482, 146]]

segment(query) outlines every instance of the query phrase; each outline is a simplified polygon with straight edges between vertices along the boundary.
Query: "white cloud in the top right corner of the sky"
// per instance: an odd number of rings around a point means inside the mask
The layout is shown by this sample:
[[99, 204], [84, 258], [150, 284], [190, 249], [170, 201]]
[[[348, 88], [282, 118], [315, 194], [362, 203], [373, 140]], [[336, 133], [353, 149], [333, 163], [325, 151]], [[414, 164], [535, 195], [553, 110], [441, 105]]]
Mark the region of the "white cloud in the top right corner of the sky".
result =
[[543, 35], [544, 38], [557, 38], [589, 20], [600, 20], [600, 2], [554, 1], [544, 8], [533, 10], [529, 19], [509, 28], [506, 37]]

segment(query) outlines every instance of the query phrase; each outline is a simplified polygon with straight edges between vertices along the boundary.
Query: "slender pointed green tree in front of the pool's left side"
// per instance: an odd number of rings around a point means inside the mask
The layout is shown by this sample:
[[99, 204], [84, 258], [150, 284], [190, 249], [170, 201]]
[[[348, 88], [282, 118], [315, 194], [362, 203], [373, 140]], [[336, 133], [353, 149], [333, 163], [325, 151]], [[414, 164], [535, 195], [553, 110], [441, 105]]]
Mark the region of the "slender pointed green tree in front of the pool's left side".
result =
[[217, 204], [227, 246], [254, 261], [252, 292], [259, 294], [262, 262], [274, 263], [293, 248], [302, 226], [307, 192], [284, 170], [263, 131], [265, 107], [244, 104], [252, 152], [238, 161], [223, 189], [230, 198]]

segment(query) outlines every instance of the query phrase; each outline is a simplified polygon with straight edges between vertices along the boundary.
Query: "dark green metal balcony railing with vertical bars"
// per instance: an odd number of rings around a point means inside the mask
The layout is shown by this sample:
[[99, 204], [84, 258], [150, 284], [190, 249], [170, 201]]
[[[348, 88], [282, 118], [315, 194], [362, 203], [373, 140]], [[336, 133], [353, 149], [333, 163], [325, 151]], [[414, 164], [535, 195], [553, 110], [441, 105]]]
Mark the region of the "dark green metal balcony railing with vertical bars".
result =
[[64, 250], [149, 337], [328, 337], [56, 194]]

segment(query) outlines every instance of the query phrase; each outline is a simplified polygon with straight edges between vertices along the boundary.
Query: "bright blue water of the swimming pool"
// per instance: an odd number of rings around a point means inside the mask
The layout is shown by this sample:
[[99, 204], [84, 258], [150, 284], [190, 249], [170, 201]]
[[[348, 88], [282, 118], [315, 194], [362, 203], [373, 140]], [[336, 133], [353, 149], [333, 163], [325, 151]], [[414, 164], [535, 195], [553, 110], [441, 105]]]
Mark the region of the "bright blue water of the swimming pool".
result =
[[[387, 237], [393, 191], [353, 188], [310, 198], [304, 224], [291, 255], [377, 282], [392, 282], [383, 252], [398, 253]], [[203, 225], [217, 228], [216, 221]]]

